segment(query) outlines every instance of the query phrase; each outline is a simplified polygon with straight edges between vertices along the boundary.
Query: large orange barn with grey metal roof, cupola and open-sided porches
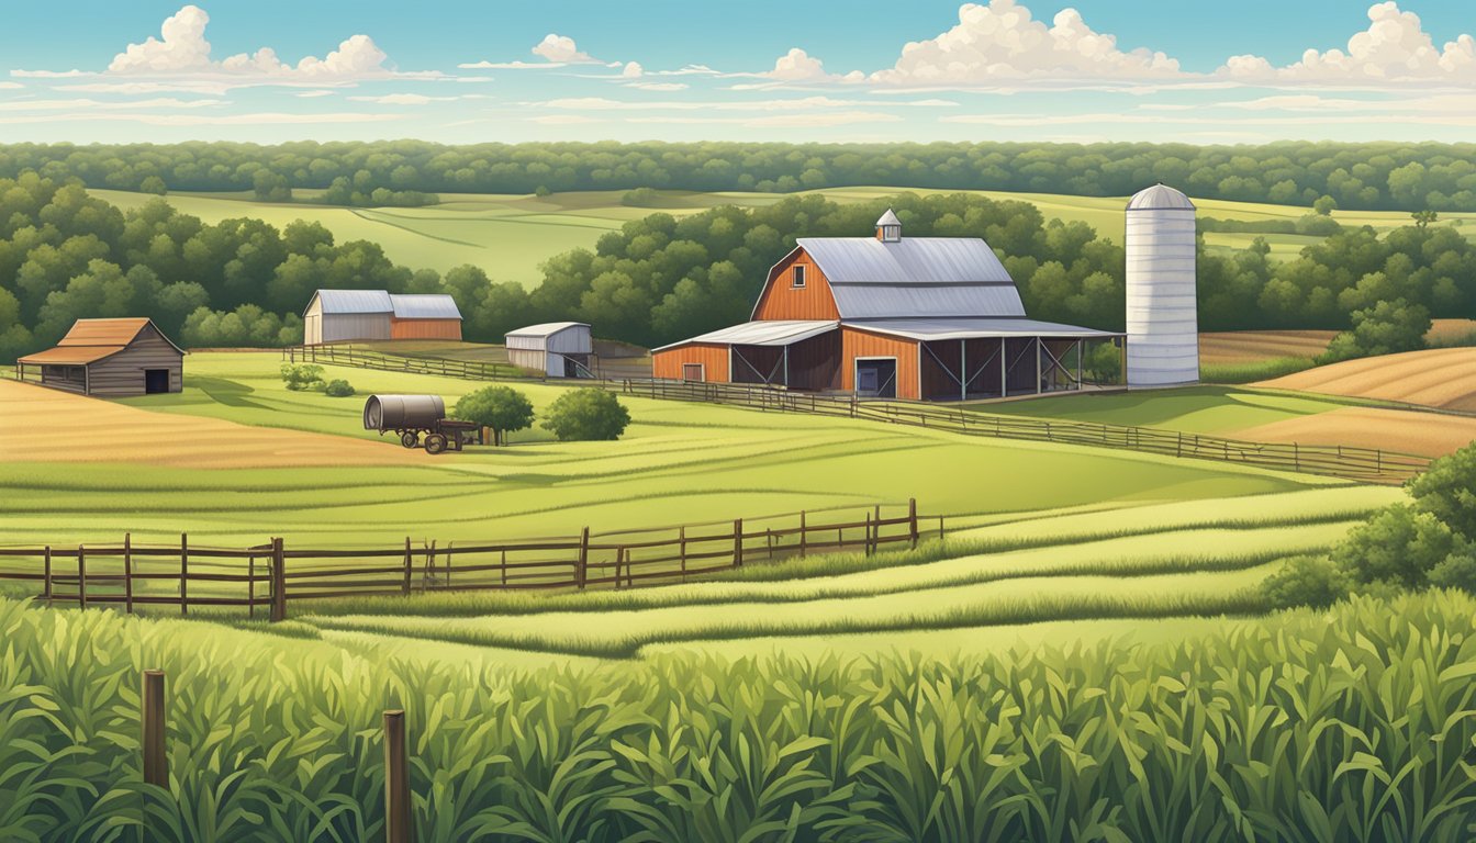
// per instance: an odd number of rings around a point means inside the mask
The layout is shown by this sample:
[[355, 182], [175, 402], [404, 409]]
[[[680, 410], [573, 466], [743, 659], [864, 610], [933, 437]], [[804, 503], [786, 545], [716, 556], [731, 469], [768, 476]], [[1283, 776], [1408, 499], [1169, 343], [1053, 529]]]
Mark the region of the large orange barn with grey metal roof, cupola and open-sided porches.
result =
[[800, 238], [753, 320], [652, 353], [657, 378], [971, 400], [1080, 387], [1082, 344], [1120, 337], [1029, 319], [979, 238]]

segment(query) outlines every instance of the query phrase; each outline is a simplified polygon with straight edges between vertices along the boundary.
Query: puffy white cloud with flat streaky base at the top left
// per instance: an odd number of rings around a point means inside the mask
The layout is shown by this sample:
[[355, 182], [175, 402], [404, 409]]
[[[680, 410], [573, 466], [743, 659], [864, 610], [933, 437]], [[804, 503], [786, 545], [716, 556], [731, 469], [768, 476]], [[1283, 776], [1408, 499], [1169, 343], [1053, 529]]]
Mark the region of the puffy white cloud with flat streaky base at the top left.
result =
[[[115, 55], [102, 74], [83, 71], [16, 71], [21, 77], [128, 77], [149, 81], [96, 83], [114, 84], [115, 93], [148, 93], [158, 90], [229, 90], [246, 84], [341, 84], [365, 78], [419, 77], [441, 74], [401, 74], [385, 65], [388, 56], [369, 35], [351, 35], [337, 50], [323, 58], [304, 56], [295, 65], [277, 58], [272, 47], [254, 53], [238, 53], [221, 61], [211, 59], [211, 44], [205, 37], [210, 15], [199, 6], [184, 6], [159, 28], [159, 37], [128, 44]], [[124, 86], [124, 87], [118, 87]]]

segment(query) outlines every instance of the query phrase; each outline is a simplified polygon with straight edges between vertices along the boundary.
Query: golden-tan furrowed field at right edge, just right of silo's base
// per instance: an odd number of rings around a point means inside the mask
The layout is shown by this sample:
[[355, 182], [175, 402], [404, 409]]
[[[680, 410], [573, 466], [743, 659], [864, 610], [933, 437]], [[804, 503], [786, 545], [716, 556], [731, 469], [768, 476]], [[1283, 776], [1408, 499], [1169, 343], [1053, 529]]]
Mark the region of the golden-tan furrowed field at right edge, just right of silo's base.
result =
[[1476, 348], [1345, 360], [1256, 385], [1476, 412]]

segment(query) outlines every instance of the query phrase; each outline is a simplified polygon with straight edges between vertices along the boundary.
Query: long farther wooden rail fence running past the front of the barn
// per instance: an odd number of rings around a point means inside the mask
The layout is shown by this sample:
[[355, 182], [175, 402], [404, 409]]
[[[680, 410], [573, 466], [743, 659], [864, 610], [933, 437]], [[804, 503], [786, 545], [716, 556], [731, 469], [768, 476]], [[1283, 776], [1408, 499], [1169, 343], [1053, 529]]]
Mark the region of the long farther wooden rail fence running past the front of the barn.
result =
[[[472, 381], [520, 379], [508, 375], [509, 371], [518, 372], [517, 369], [496, 363], [443, 360], [438, 357], [397, 357], [338, 345], [288, 348], [283, 351], [283, 357], [294, 362], [300, 359], [308, 362], [317, 360], [341, 366], [444, 375]], [[521, 379], [528, 378], [524, 376]], [[1212, 459], [1216, 462], [1320, 474], [1362, 483], [1404, 483], [1430, 465], [1430, 459], [1426, 456], [1382, 449], [1246, 441], [1145, 427], [1002, 416], [964, 406], [859, 400], [855, 396], [797, 393], [763, 385], [654, 378], [579, 379], [570, 381], [570, 384], [595, 385], [644, 399], [703, 402], [766, 412], [863, 418], [965, 436], [1083, 444], [1175, 458]]]

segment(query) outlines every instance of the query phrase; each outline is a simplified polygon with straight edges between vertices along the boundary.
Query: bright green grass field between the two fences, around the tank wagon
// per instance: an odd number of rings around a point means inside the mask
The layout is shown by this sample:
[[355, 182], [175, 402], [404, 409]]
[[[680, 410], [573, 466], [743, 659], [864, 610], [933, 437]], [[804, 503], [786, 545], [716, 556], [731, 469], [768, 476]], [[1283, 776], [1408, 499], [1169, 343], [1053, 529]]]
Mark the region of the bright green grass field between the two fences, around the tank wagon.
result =
[[[370, 393], [437, 393], [447, 407], [477, 384], [329, 368], [350, 399], [291, 393], [272, 353], [198, 353], [186, 388], [128, 399], [161, 413], [378, 438], [360, 422]], [[528, 384], [536, 407], [565, 387]], [[624, 399], [621, 441], [512, 446], [424, 458], [410, 467], [189, 469], [108, 464], [0, 465], [9, 500], [0, 540], [466, 540], [722, 521], [917, 498], [958, 517], [1289, 492], [1330, 481], [1210, 462], [1049, 443], [982, 441], [942, 431]], [[399, 449], [393, 437], [381, 440]], [[161, 443], [167, 447], [167, 443]], [[229, 441], [221, 447], [229, 449]]]

